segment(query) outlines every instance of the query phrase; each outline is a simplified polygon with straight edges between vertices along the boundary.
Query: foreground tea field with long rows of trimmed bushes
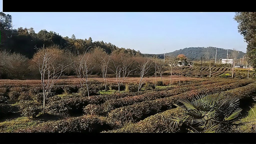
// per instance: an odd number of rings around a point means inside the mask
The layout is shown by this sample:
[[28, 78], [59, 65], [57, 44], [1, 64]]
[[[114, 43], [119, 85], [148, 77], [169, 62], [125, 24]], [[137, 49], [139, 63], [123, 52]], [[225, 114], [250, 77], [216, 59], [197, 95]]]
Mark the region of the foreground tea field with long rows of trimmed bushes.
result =
[[99, 95], [102, 83], [92, 81], [90, 85], [94, 93], [89, 97], [76, 85], [57, 85], [46, 104], [48, 114], [44, 115], [38, 115], [42, 110], [40, 88], [1, 85], [0, 131], [173, 132], [169, 119], [181, 115], [182, 110], [175, 106], [179, 99], [220, 91], [225, 97], [244, 99], [252, 97], [256, 87], [253, 79], [214, 78]]

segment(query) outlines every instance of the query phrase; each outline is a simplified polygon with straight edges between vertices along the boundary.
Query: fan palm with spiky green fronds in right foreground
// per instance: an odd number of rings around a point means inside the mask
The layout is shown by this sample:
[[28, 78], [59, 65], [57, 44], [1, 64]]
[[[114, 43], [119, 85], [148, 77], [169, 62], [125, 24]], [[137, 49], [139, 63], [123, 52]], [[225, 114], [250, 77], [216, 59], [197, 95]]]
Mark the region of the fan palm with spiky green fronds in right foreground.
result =
[[239, 98], [223, 98], [221, 93], [180, 99], [183, 117], [174, 117], [170, 126], [177, 132], [238, 132], [242, 118]]

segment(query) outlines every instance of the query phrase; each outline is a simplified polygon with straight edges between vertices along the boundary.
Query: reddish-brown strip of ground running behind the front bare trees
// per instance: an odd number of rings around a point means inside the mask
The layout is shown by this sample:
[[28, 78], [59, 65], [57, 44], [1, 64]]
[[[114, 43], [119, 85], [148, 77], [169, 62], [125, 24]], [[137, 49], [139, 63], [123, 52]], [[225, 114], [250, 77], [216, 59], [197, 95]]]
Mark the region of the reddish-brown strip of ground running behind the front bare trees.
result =
[[[143, 78], [146, 81], [152, 81], [155, 82], [155, 77], [145, 77]], [[200, 78], [191, 78], [191, 77], [184, 77], [181, 76], [180, 80], [193, 80], [193, 79], [200, 79]], [[103, 78], [95, 77], [95, 78], [89, 78], [89, 80], [98, 80], [104, 82]], [[157, 81], [161, 80], [160, 77], [157, 77]], [[162, 80], [165, 84], [169, 84], [170, 82], [170, 76], [163, 76]], [[63, 79], [59, 79], [58, 82], [68, 81], [71, 83], [79, 83], [79, 78], [76, 78], [75, 76], [66, 76]], [[116, 78], [107, 78], [107, 82], [116, 82]], [[139, 77], [129, 77], [124, 82], [135, 82], [138, 83], [140, 81]], [[173, 76], [173, 81], [179, 81], [179, 76]], [[40, 84], [41, 80], [9, 80], [9, 79], [1, 79], [0, 85], [8, 85], [8, 84]]]

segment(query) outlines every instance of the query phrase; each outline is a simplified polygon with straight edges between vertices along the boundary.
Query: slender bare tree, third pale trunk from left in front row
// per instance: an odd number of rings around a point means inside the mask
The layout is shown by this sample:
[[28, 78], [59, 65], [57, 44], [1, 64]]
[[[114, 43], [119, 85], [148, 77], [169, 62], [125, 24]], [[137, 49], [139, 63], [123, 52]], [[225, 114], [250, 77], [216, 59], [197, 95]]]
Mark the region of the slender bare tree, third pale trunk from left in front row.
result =
[[111, 55], [108, 55], [103, 49], [97, 47], [93, 50], [92, 57], [95, 61], [95, 64], [98, 65], [98, 68], [101, 72], [102, 78], [104, 79], [105, 90], [107, 90], [107, 73], [108, 65], [111, 58]]

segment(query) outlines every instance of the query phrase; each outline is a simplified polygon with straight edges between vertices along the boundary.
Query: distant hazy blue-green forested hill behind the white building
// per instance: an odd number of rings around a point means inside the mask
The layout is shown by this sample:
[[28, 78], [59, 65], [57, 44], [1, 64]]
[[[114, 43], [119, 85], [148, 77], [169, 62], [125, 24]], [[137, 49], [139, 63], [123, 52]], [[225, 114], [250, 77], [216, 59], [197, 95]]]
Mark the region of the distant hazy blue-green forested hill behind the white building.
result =
[[[216, 47], [210, 47], [214, 50], [214, 54], [216, 53]], [[165, 56], [177, 56], [179, 54], [184, 54], [188, 60], [200, 60], [201, 56], [203, 55], [204, 52], [204, 47], [189, 47], [189, 48], [184, 48], [184, 49], [180, 49], [180, 50], [175, 50], [174, 52], [170, 52], [170, 53], [166, 53]], [[228, 50], [228, 58], [231, 58], [231, 52], [232, 50], [229, 49]], [[238, 58], [243, 57], [246, 53], [243, 53], [241, 51], [238, 51], [239, 55]], [[148, 57], [151, 57], [151, 55], [153, 57], [158, 57], [158, 58], [164, 58], [164, 54], [144, 54]], [[227, 49], [223, 49], [223, 48], [217, 48], [217, 60], [219, 60], [220, 58], [227, 58]]]

